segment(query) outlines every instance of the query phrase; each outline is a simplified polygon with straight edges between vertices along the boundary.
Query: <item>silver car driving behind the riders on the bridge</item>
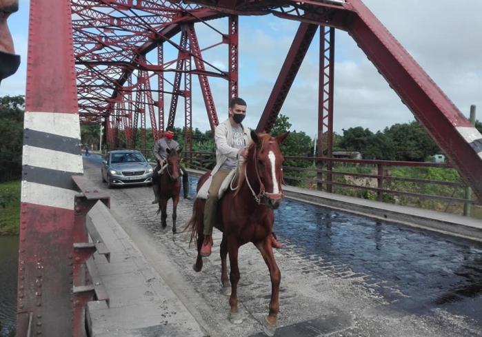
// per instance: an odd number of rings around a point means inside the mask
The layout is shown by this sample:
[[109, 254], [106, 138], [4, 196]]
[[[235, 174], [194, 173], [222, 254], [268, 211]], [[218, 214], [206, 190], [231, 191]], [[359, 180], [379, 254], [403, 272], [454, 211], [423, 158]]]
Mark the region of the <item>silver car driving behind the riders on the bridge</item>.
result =
[[102, 161], [102, 181], [107, 187], [152, 184], [152, 166], [137, 150], [113, 150]]

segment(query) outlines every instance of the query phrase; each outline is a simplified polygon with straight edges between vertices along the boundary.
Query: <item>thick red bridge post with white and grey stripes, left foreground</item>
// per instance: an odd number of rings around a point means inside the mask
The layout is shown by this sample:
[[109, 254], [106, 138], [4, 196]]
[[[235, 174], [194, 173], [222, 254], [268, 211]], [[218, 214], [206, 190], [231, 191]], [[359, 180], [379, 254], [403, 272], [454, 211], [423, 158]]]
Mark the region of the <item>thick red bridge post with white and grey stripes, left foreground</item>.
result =
[[86, 232], [74, 226], [83, 166], [70, 17], [70, 1], [30, 1], [17, 336], [74, 334], [73, 243]]

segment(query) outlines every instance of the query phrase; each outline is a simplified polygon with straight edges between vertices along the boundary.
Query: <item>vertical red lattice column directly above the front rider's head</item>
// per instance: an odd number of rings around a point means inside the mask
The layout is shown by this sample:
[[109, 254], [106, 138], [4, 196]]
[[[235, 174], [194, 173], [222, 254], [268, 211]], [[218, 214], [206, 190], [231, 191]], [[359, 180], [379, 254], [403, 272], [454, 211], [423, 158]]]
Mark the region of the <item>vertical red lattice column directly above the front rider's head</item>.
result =
[[239, 69], [239, 25], [238, 16], [230, 15], [228, 19], [228, 66], [229, 66], [229, 84], [228, 84], [228, 103], [238, 96], [238, 69]]

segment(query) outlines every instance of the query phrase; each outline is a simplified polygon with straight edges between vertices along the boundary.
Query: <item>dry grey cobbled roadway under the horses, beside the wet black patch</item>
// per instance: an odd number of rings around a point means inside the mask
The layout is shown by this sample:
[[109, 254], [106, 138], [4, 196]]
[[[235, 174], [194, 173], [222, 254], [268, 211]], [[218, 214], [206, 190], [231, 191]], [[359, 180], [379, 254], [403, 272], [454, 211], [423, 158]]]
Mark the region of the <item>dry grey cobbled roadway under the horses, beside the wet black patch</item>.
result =
[[[100, 168], [84, 161], [84, 170], [99, 189], [111, 195], [112, 210], [119, 223], [165, 278], [190, 310], [207, 336], [263, 336], [261, 324], [268, 313], [270, 277], [253, 245], [241, 247], [239, 305], [243, 323], [228, 320], [228, 297], [221, 294], [219, 244], [214, 233], [212, 255], [204, 258], [203, 270], [192, 269], [196, 257], [187, 233], [161, 228], [157, 205], [151, 205], [150, 187], [107, 190]], [[178, 206], [178, 230], [190, 218], [192, 201]], [[334, 263], [321, 254], [306, 254], [297, 243], [275, 251], [281, 269], [280, 313], [275, 336], [482, 336], [479, 322], [443, 309], [423, 314], [408, 312], [395, 304], [403, 296], [398, 287], [370, 275], [354, 272], [345, 263]], [[383, 291], [380, 291], [382, 289]], [[398, 296], [385, 296], [384, 293]]]

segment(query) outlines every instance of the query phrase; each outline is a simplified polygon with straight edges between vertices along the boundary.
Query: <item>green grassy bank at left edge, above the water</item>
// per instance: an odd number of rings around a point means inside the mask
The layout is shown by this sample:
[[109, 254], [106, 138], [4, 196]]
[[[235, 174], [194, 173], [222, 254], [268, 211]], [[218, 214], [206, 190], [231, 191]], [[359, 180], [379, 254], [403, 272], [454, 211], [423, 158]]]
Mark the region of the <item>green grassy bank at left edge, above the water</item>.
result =
[[0, 235], [19, 234], [20, 190], [20, 181], [0, 183]]

